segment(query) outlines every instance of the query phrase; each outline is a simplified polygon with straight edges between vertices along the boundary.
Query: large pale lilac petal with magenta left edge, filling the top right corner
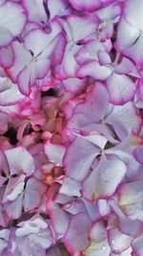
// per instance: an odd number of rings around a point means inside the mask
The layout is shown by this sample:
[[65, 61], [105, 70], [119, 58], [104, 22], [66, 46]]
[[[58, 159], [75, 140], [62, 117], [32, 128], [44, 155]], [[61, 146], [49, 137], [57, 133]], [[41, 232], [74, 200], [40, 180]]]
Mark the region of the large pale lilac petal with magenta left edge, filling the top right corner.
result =
[[116, 46], [119, 51], [133, 58], [136, 64], [143, 63], [142, 54], [142, 22], [143, 2], [141, 0], [126, 1], [123, 17], [119, 23]]

